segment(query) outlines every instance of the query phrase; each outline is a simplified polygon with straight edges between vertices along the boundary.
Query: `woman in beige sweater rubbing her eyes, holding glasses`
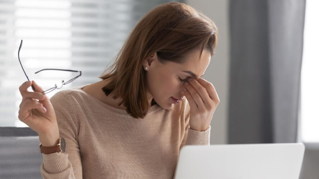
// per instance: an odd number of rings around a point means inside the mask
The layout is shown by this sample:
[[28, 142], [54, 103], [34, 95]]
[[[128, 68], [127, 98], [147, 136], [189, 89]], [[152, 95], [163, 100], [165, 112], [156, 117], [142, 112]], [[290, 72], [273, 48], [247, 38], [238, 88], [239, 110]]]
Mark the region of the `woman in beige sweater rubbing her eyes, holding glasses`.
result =
[[[102, 81], [50, 99], [36, 82], [22, 84], [19, 119], [39, 134], [42, 177], [173, 178], [184, 145], [209, 145], [219, 98], [200, 76], [217, 36], [189, 5], [161, 4], [140, 19]], [[64, 151], [44, 150], [61, 138]]]

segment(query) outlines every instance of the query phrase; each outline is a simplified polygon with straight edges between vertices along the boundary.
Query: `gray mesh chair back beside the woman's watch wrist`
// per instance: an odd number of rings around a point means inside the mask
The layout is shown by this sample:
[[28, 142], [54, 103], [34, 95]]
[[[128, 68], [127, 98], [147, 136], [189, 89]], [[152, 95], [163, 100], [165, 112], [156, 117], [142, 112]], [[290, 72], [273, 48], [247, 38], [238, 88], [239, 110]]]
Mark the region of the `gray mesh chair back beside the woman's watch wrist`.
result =
[[0, 127], [0, 178], [42, 179], [39, 144], [29, 127]]

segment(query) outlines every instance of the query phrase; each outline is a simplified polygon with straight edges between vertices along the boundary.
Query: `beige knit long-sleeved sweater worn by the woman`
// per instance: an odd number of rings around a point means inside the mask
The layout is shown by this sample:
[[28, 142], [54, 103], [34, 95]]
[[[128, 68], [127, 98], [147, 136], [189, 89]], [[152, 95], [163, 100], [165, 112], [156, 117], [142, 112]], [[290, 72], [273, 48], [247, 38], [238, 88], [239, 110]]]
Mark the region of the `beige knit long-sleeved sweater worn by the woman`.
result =
[[209, 145], [211, 127], [189, 128], [188, 103], [181, 116], [182, 103], [170, 110], [155, 104], [137, 119], [81, 90], [86, 85], [50, 99], [66, 150], [43, 154], [44, 179], [172, 179], [182, 146]]

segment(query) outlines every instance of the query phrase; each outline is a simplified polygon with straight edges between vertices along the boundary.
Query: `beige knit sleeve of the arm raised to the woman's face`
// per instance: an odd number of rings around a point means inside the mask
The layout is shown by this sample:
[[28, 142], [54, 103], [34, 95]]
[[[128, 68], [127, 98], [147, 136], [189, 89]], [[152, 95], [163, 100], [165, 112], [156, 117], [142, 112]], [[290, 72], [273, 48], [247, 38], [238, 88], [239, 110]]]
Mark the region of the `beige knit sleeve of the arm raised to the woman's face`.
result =
[[189, 116], [190, 116], [190, 106], [188, 101], [186, 100], [185, 104], [185, 113], [184, 113], [184, 120], [185, 120], [185, 133], [182, 140], [182, 144], [180, 149], [185, 145], [210, 145], [210, 131], [211, 126], [205, 131], [195, 131], [189, 128]]

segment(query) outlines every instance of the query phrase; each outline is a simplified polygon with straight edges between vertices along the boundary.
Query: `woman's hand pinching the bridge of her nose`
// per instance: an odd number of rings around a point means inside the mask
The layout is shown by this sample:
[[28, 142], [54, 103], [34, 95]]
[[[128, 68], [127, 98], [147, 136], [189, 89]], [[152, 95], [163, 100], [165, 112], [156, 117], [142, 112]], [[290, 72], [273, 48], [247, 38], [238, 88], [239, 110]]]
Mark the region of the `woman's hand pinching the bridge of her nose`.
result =
[[205, 131], [219, 104], [214, 86], [202, 78], [189, 78], [184, 82], [184, 95], [190, 106], [189, 127], [195, 131]]

